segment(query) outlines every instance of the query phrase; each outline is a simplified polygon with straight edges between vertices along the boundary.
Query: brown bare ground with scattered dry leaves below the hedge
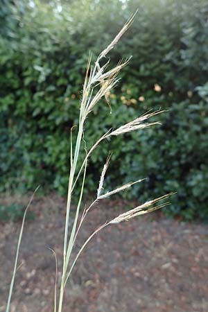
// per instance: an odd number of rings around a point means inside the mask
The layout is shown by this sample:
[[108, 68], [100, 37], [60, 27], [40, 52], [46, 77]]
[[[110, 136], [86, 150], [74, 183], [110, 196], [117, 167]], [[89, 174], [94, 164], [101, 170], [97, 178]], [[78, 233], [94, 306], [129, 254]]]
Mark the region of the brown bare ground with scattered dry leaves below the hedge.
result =
[[[25, 201], [13, 198], [9, 201]], [[4, 200], [6, 202], [6, 200]], [[125, 202], [105, 202], [89, 214], [77, 248]], [[53, 312], [55, 260], [62, 267], [64, 200], [37, 198], [21, 245], [12, 309]], [[0, 224], [0, 311], [5, 311], [20, 223]], [[106, 227], [89, 243], [67, 286], [64, 312], [207, 312], [208, 227], [156, 212]]]

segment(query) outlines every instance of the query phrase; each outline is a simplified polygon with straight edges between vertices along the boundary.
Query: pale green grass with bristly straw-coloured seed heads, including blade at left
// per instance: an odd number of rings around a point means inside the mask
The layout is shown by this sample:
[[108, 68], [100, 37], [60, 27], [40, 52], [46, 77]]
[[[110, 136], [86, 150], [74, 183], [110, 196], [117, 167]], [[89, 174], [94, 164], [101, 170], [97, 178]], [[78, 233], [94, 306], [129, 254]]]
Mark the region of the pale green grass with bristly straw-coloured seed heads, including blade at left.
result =
[[[76, 261], [78, 260], [78, 257], [80, 256], [81, 252], [83, 252], [87, 243], [89, 243], [89, 241], [93, 238], [93, 236], [96, 233], [101, 231], [101, 229], [103, 229], [104, 227], [107, 227], [109, 225], [115, 225], [116, 223], [121, 223], [125, 220], [130, 220], [131, 218], [135, 218], [136, 216], [140, 216], [142, 214], [147, 214], [151, 211], [155, 211], [156, 209], [162, 208], [164, 207], [164, 205], [168, 204], [168, 202], [164, 202], [164, 199], [167, 198], [170, 194], [156, 198], [154, 200], [150, 200], [148, 202], [145, 202], [144, 204], [139, 205], [129, 211], [126, 211], [123, 214], [120, 214], [119, 216], [117, 216], [116, 218], [104, 223], [103, 225], [101, 225], [100, 227], [94, 230], [94, 232], [88, 237], [85, 243], [83, 243], [82, 247], [76, 254], [75, 258], [73, 258], [73, 261], [71, 261], [71, 253], [73, 252], [73, 247], [75, 245], [78, 232], [80, 230], [80, 227], [83, 225], [83, 221], [85, 220], [85, 217], [87, 216], [89, 210], [100, 200], [109, 198], [115, 193], [125, 191], [126, 189], [132, 187], [133, 184], [140, 183], [144, 180], [144, 179], [141, 179], [135, 182], [129, 182], [128, 184], [123, 184], [121, 187], [113, 189], [112, 191], [103, 192], [105, 175], [107, 172], [107, 167], [109, 166], [109, 163], [110, 163], [110, 155], [109, 155], [103, 166], [103, 171], [101, 172], [101, 178], [98, 183], [98, 190], [96, 193], [96, 198], [88, 207], [85, 207], [85, 209], [83, 210], [81, 214], [80, 221], [78, 222], [79, 220], [78, 217], [80, 216], [80, 207], [83, 202], [83, 191], [85, 187], [87, 162], [88, 162], [90, 155], [93, 153], [95, 148], [98, 147], [101, 141], [105, 139], [110, 139], [111, 137], [118, 136], [118, 135], [125, 135], [125, 133], [148, 128], [152, 125], [158, 125], [159, 124], [158, 121], [148, 122], [148, 119], [150, 119], [150, 117], [152, 116], [161, 114], [163, 112], [161, 110], [156, 111], [156, 112], [147, 112], [146, 114], [137, 117], [135, 120], [129, 121], [128, 123], [121, 125], [119, 128], [109, 129], [87, 151], [87, 148], [86, 148], [87, 144], [84, 140], [84, 125], [85, 125], [87, 116], [94, 110], [94, 107], [98, 105], [98, 102], [102, 98], [105, 98], [108, 105], [110, 105], [108, 101], [108, 95], [110, 94], [111, 90], [119, 82], [119, 78], [118, 78], [119, 71], [121, 71], [121, 69], [123, 69], [123, 67], [125, 67], [130, 60], [130, 58], [128, 60], [121, 60], [119, 61], [116, 67], [110, 70], [107, 70], [107, 67], [110, 64], [110, 60], [107, 60], [106, 57], [110, 53], [110, 51], [114, 48], [116, 43], [119, 42], [122, 35], [128, 30], [128, 28], [132, 24], [133, 18], [134, 18], [134, 15], [126, 22], [126, 24], [123, 26], [121, 31], [116, 35], [114, 40], [112, 40], [112, 42], [106, 47], [106, 49], [104, 49], [100, 53], [100, 55], [98, 55], [98, 58], [96, 59], [96, 62], [94, 63], [94, 65], [92, 65], [92, 55], [89, 55], [89, 60], [88, 60], [87, 70], [86, 70], [86, 75], [85, 75], [85, 82], [83, 85], [82, 99], [80, 101], [80, 116], [79, 116], [78, 131], [77, 131], [77, 137], [76, 137], [76, 145], [75, 147], [73, 147], [72, 139], [71, 139], [71, 144], [70, 144], [71, 157], [70, 157], [69, 186], [68, 186], [68, 196], [67, 196], [67, 211], [66, 211], [65, 228], [64, 228], [62, 278], [61, 278], [60, 288], [58, 288], [58, 285], [56, 283], [57, 278], [55, 279], [54, 312], [62, 312], [63, 302], [64, 302], [64, 290], [65, 290], [67, 281], [69, 280], [71, 272], [74, 266], [76, 265]], [[72, 136], [72, 129], [71, 129], [71, 136]], [[80, 157], [80, 148], [82, 148], [82, 146], [84, 146], [85, 148], [86, 156], [85, 156], [85, 159], [83, 160], [83, 163], [78, 168], [78, 159]], [[79, 178], [82, 178], [82, 187], [80, 189], [78, 204], [76, 205], [76, 213], [73, 219], [72, 228], [71, 228], [71, 231], [69, 232], [69, 220], [70, 220], [70, 214], [71, 214], [71, 198], [73, 195], [73, 189], [76, 187], [76, 182], [78, 181]], [[24, 216], [24, 219], [25, 219], [25, 216]], [[6, 312], [9, 312], [9, 309], [10, 309], [10, 300], [11, 300], [11, 295], [12, 295], [12, 288], [13, 288], [14, 281], [15, 281], [15, 273], [17, 270], [19, 245], [21, 243], [21, 235], [23, 232], [23, 227], [24, 227], [24, 221], [22, 223], [21, 232], [19, 235], [17, 256], [15, 260], [15, 269], [13, 272], [12, 283], [10, 286], [10, 295], [8, 299], [8, 306], [7, 306]], [[57, 296], [57, 294], [59, 295]]]

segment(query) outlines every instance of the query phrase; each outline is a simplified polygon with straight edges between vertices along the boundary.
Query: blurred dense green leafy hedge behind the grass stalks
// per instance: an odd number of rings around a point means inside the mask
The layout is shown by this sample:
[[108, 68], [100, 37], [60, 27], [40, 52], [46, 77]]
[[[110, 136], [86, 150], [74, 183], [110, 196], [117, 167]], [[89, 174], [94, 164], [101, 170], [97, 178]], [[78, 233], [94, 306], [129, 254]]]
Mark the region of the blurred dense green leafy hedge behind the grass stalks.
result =
[[[12, 2], [11, 2], [12, 3]], [[69, 130], [78, 121], [88, 51], [96, 55], [139, 7], [111, 60], [133, 55], [119, 86], [89, 115], [88, 147], [110, 127], [147, 110], [162, 126], [101, 144], [88, 167], [96, 188], [113, 150], [107, 186], [148, 177], [124, 196], [144, 200], [177, 191], [168, 211], [207, 217], [208, 4], [206, 0], [55, 2], [9, 6], [0, 42], [0, 189], [67, 189]], [[1, 9], [0, 9], [1, 10]], [[110, 13], [109, 13], [110, 12]]]

